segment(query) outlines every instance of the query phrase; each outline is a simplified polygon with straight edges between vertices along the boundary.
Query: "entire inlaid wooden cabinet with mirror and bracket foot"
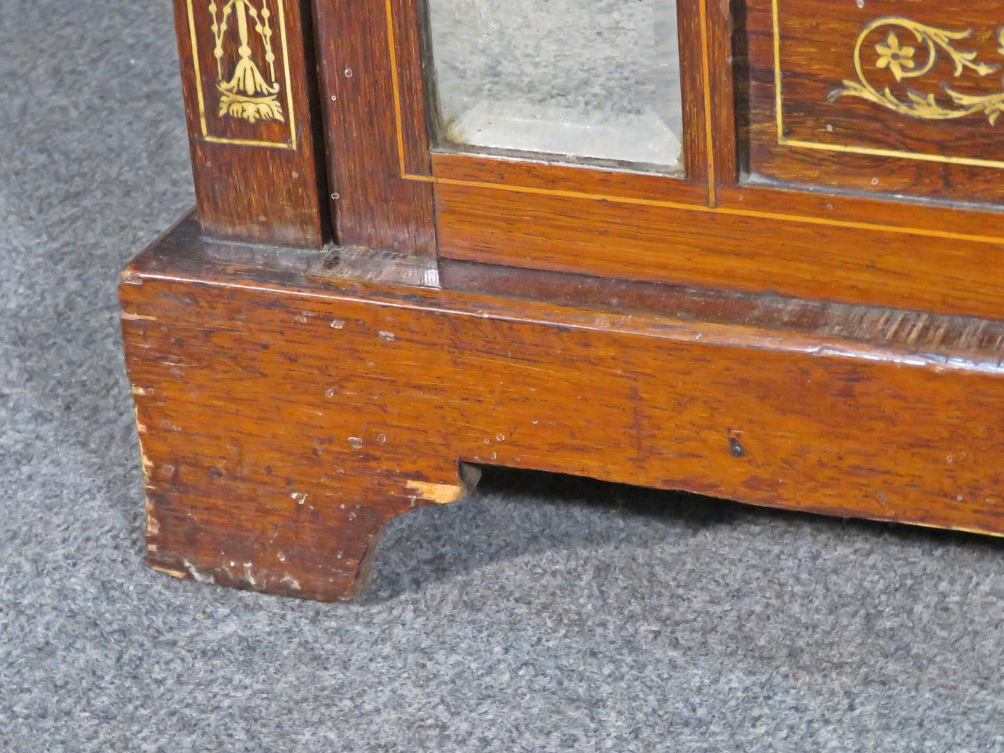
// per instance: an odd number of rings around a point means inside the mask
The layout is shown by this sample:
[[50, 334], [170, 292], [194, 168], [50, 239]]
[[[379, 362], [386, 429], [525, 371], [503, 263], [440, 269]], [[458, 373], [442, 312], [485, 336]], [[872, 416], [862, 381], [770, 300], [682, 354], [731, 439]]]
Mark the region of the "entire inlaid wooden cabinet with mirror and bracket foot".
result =
[[1004, 532], [997, 4], [577, 1], [176, 0], [155, 566], [344, 597], [484, 463]]

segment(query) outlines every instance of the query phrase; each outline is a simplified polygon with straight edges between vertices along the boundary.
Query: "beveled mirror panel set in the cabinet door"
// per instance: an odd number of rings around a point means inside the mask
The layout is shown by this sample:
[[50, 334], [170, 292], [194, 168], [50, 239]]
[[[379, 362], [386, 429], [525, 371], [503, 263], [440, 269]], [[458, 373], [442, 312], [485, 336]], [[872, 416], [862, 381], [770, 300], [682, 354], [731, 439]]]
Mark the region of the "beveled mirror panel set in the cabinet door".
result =
[[445, 149], [683, 171], [676, 0], [429, 0]]

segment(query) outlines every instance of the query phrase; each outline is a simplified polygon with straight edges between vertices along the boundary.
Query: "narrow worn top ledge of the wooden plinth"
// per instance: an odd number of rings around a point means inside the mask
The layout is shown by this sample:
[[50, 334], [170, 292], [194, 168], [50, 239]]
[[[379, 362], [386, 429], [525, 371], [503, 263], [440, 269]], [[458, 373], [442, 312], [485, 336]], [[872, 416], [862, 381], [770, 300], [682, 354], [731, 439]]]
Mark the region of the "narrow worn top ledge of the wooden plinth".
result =
[[366, 249], [224, 242], [200, 235], [193, 215], [122, 272], [122, 284], [145, 279], [913, 366], [1004, 370], [1004, 321], [997, 319], [464, 261], [440, 260], [437, 268], [428, 259], [389, 261], [387, 252]]

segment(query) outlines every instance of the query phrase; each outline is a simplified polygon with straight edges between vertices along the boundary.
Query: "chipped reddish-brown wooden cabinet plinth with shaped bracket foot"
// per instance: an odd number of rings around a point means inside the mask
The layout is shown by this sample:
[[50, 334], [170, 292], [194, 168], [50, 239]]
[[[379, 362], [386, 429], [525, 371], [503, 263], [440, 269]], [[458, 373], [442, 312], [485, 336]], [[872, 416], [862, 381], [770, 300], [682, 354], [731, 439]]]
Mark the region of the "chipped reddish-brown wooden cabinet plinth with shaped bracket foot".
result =
[[1004, 532], [999, 322], [334, 253], [124, 272], [154, 567], [346, 598], [477, 464]]

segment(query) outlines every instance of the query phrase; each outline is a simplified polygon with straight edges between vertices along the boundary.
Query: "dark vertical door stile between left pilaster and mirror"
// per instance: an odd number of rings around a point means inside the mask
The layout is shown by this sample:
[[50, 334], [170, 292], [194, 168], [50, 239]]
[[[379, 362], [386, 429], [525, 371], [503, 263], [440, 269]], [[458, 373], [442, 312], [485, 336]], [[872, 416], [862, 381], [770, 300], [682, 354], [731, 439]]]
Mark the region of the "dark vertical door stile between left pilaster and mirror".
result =
[[428, 173], [418, 4], [392, 6], [400, 132], [385, 0], [313, 0], [336, 236], [344, 246], [435, 256], [432, 188], [402, 178], [403, 169]]

